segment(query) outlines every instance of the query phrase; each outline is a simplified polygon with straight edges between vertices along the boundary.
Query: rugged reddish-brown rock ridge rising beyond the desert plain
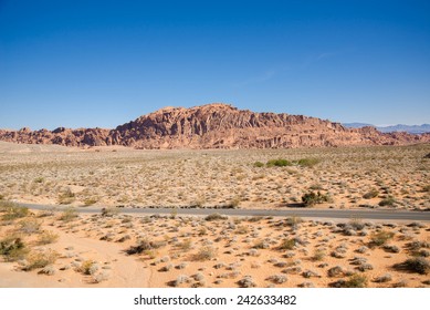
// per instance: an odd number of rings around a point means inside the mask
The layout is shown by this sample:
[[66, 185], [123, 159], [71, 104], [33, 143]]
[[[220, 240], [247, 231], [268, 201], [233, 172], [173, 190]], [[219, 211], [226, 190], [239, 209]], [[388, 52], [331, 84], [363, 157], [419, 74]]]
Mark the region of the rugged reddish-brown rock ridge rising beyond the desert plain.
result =
[[66, 146], [124, 145], [135, 148], [281, 148], [401, 145], [430, 142], [430, 134], [382, 134], [375, 127], [346, 128], [315, 117], [255, 113], [227, 104], [165, 107], [116, 127], [1, 131], [0, 140]]

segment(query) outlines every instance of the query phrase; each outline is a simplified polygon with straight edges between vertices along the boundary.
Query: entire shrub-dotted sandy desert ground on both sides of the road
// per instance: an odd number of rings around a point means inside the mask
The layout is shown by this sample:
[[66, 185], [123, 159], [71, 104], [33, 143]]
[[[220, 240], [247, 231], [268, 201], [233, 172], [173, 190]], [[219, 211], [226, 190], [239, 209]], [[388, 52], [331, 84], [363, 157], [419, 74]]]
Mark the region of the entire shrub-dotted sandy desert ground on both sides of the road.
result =
[[[0, 143], [0, 287], [429, 287], [429, 221], [222, 216], [223, 207], [428, 210], [429, 153]], [[88, 206], [99, 211], [78, 213]], [[220, 209], [122, 213], [148, 206]]]

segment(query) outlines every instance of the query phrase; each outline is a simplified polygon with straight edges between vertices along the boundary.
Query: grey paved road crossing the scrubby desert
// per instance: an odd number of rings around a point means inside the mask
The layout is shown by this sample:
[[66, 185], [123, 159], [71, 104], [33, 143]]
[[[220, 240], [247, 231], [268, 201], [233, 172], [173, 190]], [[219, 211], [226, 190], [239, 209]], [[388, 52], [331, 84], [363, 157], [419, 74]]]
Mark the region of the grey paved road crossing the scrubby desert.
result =
[[[30, 209], [56, 209], [62, 210], [64, 206], [43, 206], [33, 204], [20, 204]], [[82, 207], [76, 208], [80, 213], [99, 213], [101, 208]], [[253, 209], [198, 209], [198, 208], [120, 208], [122, 214], [135, 215], [154, 215], [154, 214], [172, 214], [178, 215], [210, 215], [219, 213], [227, 216], [300, 216], [304, 218], [333, 218], [333, 219], [379, 219], [379, 220], [424, 220], [430, 221], [430, 211], [401, 211], [401, 210], [363, 210], [363, 209], [304, 209], [290, 208], [282, 210], [253, 210]]]

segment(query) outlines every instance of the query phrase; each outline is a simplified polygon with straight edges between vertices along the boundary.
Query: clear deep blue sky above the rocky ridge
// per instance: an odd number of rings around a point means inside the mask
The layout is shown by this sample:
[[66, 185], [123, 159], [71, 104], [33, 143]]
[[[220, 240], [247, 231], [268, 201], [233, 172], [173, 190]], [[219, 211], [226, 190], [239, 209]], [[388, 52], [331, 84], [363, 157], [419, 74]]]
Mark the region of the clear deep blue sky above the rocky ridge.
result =
[[430, 1], [0, 0], [0, 127], [231, 103], [430, 123]]

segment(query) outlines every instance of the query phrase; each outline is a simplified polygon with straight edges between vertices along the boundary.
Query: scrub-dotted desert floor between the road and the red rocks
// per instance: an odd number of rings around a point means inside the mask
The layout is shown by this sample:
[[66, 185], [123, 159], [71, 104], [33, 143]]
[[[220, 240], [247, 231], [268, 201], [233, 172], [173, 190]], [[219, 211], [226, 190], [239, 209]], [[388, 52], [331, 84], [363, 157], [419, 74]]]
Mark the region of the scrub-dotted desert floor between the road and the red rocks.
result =
[[[430, 208], [430, 145], [134, 151], [0, 143], [0, 195], [72, 206]], [[268, 166], [283, 158], [289, 166]], [[300, 159], [305, 159], [300, 162]]]

